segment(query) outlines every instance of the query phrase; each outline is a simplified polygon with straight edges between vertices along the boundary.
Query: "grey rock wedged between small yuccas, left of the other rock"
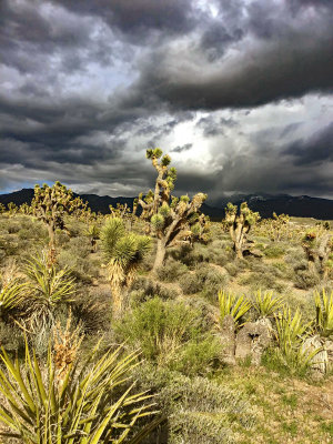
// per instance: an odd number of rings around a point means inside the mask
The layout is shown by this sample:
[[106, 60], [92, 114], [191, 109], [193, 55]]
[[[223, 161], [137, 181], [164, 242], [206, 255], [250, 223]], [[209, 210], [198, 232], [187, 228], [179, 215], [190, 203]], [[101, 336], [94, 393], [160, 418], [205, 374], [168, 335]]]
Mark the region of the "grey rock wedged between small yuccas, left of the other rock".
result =
[[270, 320], [248, 322], [236, 336], [235, 357], [251, 356], [251, 363], [260, 365], [261, 356], [272, 341], [272, 325]]

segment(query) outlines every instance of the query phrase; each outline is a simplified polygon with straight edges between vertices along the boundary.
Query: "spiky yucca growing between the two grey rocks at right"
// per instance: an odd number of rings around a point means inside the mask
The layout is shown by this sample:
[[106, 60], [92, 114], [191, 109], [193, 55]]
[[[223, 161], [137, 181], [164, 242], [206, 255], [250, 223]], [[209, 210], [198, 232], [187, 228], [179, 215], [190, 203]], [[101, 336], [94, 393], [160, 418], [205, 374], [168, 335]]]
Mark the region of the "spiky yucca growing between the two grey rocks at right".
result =
[[292, 315], [289, 306], [283, 307], [283, 312], [275, 316], [278, 355], [292, 371], [305, 371], [313, 357], [321, 349], [309, 352], [304, 347], [304, 341], [313, 331], [312, 322], [304, 323], [299, 309]]

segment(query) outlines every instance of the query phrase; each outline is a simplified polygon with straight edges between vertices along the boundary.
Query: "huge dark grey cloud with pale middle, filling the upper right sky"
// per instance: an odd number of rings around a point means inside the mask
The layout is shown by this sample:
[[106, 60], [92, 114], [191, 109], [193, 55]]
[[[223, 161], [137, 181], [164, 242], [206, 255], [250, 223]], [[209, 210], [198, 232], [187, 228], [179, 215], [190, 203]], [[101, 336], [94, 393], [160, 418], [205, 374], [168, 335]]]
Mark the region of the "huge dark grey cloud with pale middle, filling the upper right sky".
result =
[[[202, 42], [196, 49], [160, 48], [150, 54], [125, 103], [148, 104], [154, 98], [172, 109], [218, 110], [332, 92], [333, 2], [312, 11], [305, 7], [291, 18], [287, 7], [258, 1], [248, 7], [246, 20], [233, 19], [240, 20], [243, 33], [229, 38], [223, 23], [219, 32], [206, 30], [210, 47], [219, 46], [221, 54], [244, 36], [236, 52], [215, 64]], [[203, 42], [208, 47], [205, 38]]]

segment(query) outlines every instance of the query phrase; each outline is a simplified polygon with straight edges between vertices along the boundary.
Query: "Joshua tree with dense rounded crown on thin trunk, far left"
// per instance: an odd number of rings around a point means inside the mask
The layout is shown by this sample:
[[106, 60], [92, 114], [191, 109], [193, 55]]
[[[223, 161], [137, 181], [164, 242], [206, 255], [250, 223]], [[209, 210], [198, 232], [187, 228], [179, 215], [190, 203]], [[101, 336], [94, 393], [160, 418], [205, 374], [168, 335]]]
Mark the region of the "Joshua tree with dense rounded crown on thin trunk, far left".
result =
[[50, 239], [50, 258], [56, 258], [56, 230], [64, 229], [64, 214], [83, 206], [80, 198], [73, 198], [73, 192], [56, 182], [53, 186], [46, 183], [34, 186], [34, 198], [31, 202], [33, 214], [48, 226]]

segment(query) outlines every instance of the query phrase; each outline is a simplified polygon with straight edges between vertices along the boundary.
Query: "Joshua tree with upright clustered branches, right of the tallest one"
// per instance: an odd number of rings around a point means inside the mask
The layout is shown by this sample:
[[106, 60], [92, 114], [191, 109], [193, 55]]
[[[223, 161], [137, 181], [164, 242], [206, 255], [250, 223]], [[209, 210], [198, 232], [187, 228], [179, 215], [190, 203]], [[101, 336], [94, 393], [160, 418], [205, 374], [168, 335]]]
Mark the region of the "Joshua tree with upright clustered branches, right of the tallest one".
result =
[[243, 252], [248, 248], [246, 236], [251, 226], [259, 220], [259, 213], [250, 210], [246, 202], [241, 203], [239, 214], [236, 205], [228, 203], [225, 208], [225, 222], [229, 224], [233, 248], [239, 259], [243, 258]]

